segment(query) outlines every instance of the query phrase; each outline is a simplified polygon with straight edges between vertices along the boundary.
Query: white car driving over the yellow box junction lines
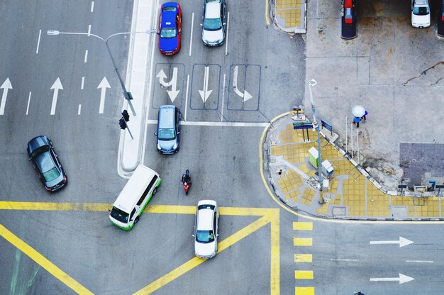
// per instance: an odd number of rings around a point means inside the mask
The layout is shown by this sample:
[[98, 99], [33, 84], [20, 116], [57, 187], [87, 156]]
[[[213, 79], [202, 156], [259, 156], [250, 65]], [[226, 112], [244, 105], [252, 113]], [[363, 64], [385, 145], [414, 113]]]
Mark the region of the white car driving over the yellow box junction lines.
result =
[[219, 210], [216, 201], [202, 200], [197, 204], [194, 225], [194, 254], [213, 258], [217, 253]]

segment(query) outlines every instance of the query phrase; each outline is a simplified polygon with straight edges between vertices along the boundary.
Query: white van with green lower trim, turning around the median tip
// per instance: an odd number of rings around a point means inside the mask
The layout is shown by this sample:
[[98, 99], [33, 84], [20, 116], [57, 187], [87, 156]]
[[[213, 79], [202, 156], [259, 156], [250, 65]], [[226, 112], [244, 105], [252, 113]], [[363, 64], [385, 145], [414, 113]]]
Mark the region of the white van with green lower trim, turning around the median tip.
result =
[[123, 230], [131, 230], [162, 183], [154, 170], [138, 165], [114, 202], [109, 219]]

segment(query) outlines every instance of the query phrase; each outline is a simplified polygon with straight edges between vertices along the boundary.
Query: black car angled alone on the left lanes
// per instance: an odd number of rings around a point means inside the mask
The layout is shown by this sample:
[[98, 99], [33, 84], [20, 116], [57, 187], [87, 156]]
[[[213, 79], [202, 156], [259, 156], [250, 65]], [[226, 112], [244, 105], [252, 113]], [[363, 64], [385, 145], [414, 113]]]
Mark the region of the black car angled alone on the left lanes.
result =
[[48, 191], [57, 191], [67, 184], [67, 175], [60, 164], [51, 140], [38, 136], [28, 143], [29, 159], [37, 171], [38, 177]]

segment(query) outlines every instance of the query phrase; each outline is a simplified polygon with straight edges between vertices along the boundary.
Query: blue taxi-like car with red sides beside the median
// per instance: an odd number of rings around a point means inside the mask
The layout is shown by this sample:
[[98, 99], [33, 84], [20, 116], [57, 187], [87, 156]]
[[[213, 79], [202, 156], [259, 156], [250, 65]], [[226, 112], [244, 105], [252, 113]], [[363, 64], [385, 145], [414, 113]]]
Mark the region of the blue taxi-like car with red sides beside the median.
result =
[[160, 8], [159, 50], [164, 55], [174, 55], [180, 50], [182, 9], [177, 2], [167, 2]]

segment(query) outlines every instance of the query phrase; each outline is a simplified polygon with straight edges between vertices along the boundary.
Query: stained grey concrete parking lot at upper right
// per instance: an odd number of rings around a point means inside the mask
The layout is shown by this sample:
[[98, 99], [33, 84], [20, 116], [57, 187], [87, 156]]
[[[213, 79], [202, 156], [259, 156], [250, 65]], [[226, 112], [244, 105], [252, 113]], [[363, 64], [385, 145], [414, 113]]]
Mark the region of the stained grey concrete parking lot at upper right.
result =
[[[370, 115], [359, 128], [360, 163], [383, 170], [380, 175], [373, 170], [373, 176], [394, 189], [401, 181], [401, 174], [394, 175], [401, 143], [443, 144], [444, 40], [436, 34], [438, 2], [431, 2], [431, 27], [421, 29], [411, 27], [410, 1], [356, 5], [357, 38], [343, 40], [340, 3], [309, 3], [306, 82], [318, 82], [313, 96], [319, 116], [333, 125], [344, 145], [351, 108], [367, 108]], [[306, 87], [306, 106], [308, 94]]]

